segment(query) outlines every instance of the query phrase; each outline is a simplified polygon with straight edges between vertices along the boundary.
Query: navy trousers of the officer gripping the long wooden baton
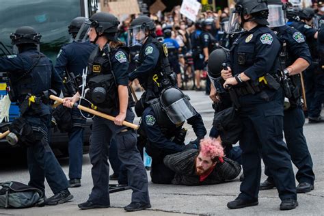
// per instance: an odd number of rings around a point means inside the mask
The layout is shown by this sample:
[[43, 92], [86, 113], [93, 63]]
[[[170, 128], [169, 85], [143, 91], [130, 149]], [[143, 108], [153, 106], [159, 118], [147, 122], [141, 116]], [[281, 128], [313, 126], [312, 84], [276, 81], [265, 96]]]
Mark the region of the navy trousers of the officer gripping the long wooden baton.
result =
[[[111, 113], [117, 116], [117, 111]], [[134, 113], [129, 108], [126, 121], [133, 122]], [[109, 143], [115, 139], [118, 157], [124, 164], [128, 175], [128, 185], [133, 190], [132, 202], [150, 203], [148, 195], [148, 178], [141, 156], [136, 148], [136, 133], [133, 130], [121, 132], [126, 126], [118, 126], [110, 120], [94, 118], [90, 144], [90, 161], [92, 163], [92, 188], [89, 201], [109, 205]]]

